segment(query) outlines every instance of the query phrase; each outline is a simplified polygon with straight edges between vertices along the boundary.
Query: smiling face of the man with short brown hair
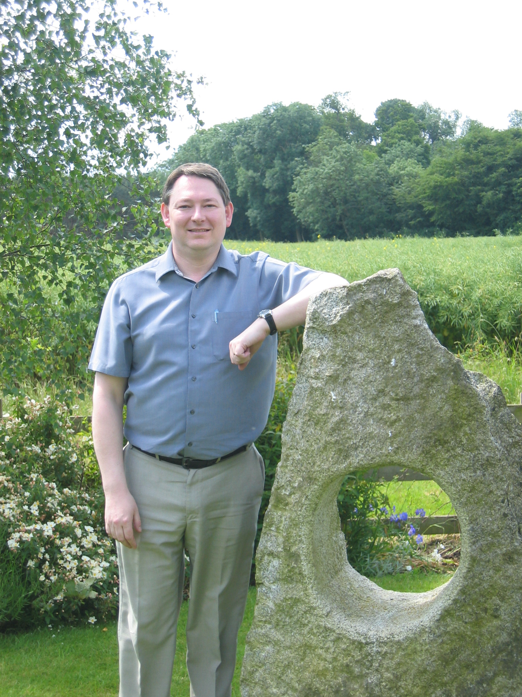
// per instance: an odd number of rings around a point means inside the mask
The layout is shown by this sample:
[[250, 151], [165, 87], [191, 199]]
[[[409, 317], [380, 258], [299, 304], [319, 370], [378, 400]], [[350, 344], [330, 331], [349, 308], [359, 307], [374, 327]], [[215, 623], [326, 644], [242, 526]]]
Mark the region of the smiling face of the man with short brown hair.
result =
[[232, 222], [232, 204], [225, 206], [210, 179], [181, 176], [176, 180], [168, 206], [161, 204], [161, 217], [170, 228], [174, 250], [180, 254], [219, 250]]

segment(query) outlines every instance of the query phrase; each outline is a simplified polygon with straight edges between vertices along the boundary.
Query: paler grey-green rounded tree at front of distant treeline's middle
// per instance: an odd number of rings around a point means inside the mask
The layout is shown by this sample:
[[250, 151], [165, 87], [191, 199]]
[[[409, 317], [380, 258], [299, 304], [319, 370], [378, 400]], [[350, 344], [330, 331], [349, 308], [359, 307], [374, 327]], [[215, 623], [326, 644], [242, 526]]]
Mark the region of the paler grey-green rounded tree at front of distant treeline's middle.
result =
[[307, 155], [290, 194], [303, 225], [322, 237], [346, 240], [395, 228], [388, 169], [374, 148], [347, 143], [330, 131], [307, 148]]

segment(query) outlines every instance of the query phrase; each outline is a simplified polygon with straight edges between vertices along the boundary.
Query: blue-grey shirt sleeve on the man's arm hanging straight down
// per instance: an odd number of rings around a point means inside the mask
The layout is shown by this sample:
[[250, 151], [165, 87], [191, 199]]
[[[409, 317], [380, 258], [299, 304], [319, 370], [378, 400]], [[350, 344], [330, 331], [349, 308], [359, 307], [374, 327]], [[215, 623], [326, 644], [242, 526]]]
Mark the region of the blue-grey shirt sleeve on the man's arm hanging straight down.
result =
[[132, 365], [131, 322], [122, 290], [116, 279], [107, 293], [88, 369], [128, 378]]

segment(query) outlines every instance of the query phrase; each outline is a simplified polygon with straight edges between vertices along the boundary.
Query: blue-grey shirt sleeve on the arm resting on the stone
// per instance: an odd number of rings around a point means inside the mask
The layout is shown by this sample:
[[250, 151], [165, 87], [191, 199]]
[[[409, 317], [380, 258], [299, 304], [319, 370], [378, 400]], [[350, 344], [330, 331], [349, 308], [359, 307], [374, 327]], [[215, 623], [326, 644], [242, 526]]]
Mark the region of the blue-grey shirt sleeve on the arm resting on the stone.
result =
[[259, 280], [259, 301], [262, 309], [274, 309], [293, 298], [299, 291], [321, 275], [306, 266], [284, 263], [270, 256], [264, 260]]

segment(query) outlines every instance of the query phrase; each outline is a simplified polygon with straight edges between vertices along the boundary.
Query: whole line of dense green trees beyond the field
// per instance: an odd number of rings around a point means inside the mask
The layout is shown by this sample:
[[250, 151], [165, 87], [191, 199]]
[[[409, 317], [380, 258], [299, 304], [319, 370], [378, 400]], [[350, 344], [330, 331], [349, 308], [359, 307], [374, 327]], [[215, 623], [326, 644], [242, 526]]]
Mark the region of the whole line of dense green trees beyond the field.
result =
[[205, 161], [235, 204], [229, 236], [301, 241], [389, 233], [491, 235], [522, 227], [522, 112], [498, 131], [424, 103], [382, 102], [374, 123], [346, 95], [273, 104], [198, 130], [156, 174]]

